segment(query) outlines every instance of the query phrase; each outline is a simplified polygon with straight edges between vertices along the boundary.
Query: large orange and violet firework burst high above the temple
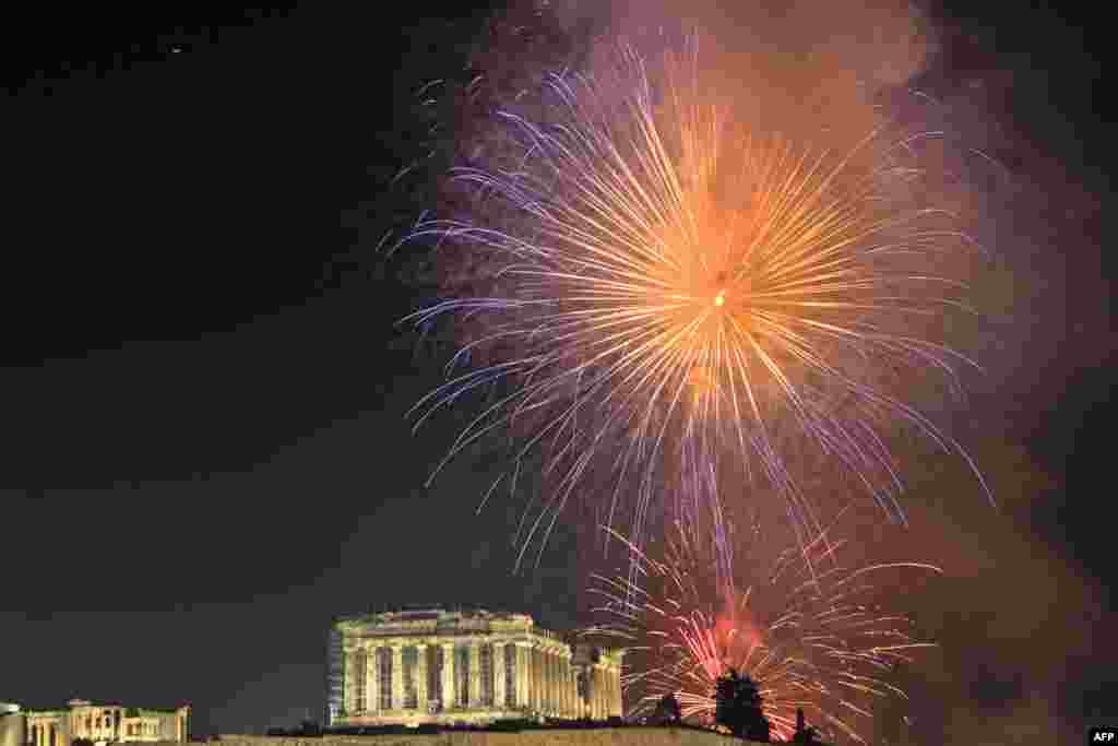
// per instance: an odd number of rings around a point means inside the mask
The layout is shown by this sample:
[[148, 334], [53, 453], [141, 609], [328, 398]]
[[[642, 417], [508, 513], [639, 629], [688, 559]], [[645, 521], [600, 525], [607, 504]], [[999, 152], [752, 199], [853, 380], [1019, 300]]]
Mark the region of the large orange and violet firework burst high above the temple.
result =
[[882, 128], [827, 149], [752, 131], [709, 95], [697, 45], [618, 59], [498, 112], [502, 157], [452, 172], [465, 213], [408, 237], [476, 277], [408, 318], [465, 339], [416, 427], [482, 397], [435, 473], [510, 434], [484, 504], [542, 462], [531, 471], [551, 483], [524, 514], [518, 564], [575, 494], [639, 544], [664, 495], [717, 513], [727, 482], [780, 495], [803, 544], [821, 528], [797, 478], [805, 453], [903, 520], [898, 429], [966, 457], [911, 403], [931, 379], [957, 390], [969, 363], [941, 339], [966, 310], [968, 239], [928, 202], [922, 138]]

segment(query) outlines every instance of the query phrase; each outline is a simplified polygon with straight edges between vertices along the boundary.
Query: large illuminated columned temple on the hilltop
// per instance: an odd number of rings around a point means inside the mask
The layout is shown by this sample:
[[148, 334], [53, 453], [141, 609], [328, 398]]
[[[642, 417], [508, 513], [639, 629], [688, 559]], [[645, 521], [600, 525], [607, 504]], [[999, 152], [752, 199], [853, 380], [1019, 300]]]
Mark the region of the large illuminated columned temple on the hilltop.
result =
[[329, 649], [331, 728], [622, 716], [623, 652], [568, 644], [527, 614], [343, 617]]

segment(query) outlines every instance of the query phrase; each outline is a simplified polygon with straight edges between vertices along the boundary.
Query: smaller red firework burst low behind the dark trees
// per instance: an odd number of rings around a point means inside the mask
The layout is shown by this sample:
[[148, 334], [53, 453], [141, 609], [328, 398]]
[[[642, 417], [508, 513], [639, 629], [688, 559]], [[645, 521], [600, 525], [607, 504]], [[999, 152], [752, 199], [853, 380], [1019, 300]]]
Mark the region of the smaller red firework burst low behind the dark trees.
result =
[[[626, 649], [622, 679], [628, 715], [650, 714], [674, 695], [684, 719], [712, 726], [717, 680], [728, 669], [749, 676], [774, 735], [788, 739], [802, 708], [828, 740], [865, 743], [882, 700], [906, 700], [887, 679], [932, 643], [913, 639], [911, 621], [869, 603], [874, 574], [898, 568], [941, 570], [925, 563], [837, 563], [842, 542], [819, 535], [765, 563], [755, 584], [728, 587], [713, 572], [713, 553], [676, 527], [664, 561], [651, 559], [619, 535], [637, 572], [596, 576], [607, 620], [584, 631]], [[752, 541], [760, 541], [755, 529]]]

